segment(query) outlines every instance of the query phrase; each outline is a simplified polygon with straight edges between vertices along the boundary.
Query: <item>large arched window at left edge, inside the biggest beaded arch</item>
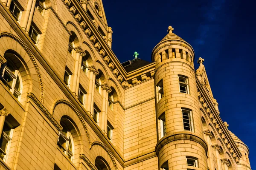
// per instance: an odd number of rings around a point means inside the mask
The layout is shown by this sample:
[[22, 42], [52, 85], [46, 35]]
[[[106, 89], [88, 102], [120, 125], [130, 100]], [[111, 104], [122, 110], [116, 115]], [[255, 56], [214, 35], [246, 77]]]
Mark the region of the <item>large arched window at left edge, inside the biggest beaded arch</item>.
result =
[[[15, 56], [14, 54], [10, 55]], [[12, 61], [8, 60], [0, 66], [0, 80], [17, 99], [20, 99], [22, 92], [22, 79], [18, 68], [16, 68]]]

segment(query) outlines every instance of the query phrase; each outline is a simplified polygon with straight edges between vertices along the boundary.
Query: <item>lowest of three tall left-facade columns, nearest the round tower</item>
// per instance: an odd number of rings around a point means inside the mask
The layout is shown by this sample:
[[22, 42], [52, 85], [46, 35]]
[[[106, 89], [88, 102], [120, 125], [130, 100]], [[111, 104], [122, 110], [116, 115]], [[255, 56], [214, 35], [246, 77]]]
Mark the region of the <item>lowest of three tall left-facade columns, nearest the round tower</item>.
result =
[[107, 84], [102, 85], [102, 114], [100, 117], [100, 127], [102, 129], [102, 132], [106, 133], [106, 127], [107, 124], [105, 122], [105, 119], [107, 117], [107, 112], [108, 112], [108, 91], [109, 87]]

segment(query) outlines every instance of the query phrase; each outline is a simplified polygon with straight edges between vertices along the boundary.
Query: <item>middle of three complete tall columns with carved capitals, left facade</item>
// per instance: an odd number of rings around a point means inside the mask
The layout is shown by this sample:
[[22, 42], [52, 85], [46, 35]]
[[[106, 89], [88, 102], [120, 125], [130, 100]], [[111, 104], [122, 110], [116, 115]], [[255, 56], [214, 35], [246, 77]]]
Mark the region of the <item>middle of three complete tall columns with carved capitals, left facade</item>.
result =
[[93, 101], [92, 96], [94, 93], [95, 88], [95, 80], [96, 80], [96, 74], [99, 74], [95, 67], [91, 66], [88, 68], [89, 70], [89, 88], [88, 88], [88, 94], [87, 94], [87, 100], [86, 100], [86, 110], [90, 112], [91, 116], [93, 116], [93, 112], [91, 112], [91, 102]]

